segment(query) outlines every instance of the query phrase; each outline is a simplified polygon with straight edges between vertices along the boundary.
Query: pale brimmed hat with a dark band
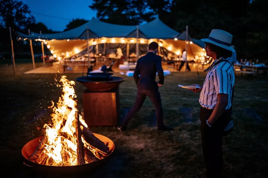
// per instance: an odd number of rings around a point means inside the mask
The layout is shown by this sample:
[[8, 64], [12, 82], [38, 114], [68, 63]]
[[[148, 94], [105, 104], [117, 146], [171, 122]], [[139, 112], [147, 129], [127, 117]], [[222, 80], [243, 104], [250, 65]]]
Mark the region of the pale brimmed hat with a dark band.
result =
[[223, 30], [213, 29], [210, 32], [208, 38], [201, 39], [201, 41], [211, 43], [213, 45], [216, 45], [226, 50], [234, 52], [235, 49], [231, 47], [232, 39], [233, 39], [233, 36], [229, 34], [228, 32], [223, 31]]

